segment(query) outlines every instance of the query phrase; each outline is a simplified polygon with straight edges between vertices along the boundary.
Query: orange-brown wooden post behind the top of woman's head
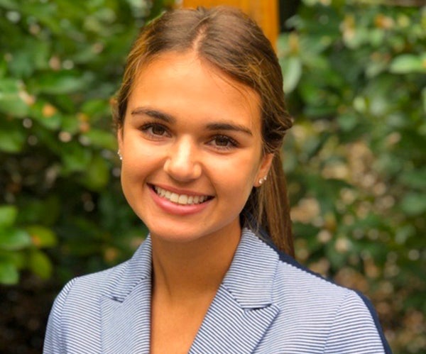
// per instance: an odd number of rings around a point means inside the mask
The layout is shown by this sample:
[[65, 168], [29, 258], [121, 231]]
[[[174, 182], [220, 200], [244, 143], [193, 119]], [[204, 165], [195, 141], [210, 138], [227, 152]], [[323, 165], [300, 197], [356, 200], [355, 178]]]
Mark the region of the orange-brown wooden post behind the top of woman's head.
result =
[[278, 37], [278, 0], [183, 0], [183, 7], [235, 6], [247, 13], [263, 29], [274, 48]]

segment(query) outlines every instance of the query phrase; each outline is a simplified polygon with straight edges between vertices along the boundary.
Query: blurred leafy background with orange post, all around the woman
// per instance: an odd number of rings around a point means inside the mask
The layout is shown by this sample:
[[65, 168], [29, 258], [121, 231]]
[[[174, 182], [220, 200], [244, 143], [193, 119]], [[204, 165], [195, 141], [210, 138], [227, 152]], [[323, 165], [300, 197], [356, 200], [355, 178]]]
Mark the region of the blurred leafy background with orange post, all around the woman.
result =
[[40, 353], [63, 284], [146, 236], [110, 101], [138, 28], [218, 3], [256, 18], [283, 67], [297, 260], [364, 292], [394, 353], [426, 353], [424, 0], [0, 0], [1, 353]]

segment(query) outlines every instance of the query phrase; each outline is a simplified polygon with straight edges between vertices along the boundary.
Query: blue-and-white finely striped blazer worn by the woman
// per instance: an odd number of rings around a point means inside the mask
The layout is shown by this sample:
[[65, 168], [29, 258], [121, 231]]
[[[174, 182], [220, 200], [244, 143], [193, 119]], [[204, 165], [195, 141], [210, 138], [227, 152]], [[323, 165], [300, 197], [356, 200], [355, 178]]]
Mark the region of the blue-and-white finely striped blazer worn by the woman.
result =
[[[151, 238], [55, 299], [43, 353], [149, 353]], [[244, 228], [190, 353], [391, 353], [370, 302]]]

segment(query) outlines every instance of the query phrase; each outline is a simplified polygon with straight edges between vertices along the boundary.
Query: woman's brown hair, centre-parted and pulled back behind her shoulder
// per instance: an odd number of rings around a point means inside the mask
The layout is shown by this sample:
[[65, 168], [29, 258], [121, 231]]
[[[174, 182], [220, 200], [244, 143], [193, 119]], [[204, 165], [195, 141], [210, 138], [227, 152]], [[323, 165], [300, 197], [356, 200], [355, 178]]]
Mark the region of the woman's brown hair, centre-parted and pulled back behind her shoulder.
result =
[[129, 52], [114, 121], [122, 128], [134, 81], [149, 62], [165, 52], [194, 50], [203, 60], [261, 98], [263, 153], [273, 153], [268, 180], [251, 191], [241, 218], [258, 233], [266, 230], [275, 246], [294, 257], [290, 207], [280, 150], [293, 124], [285, 106], [283, 74], [270, 41], [242, 11], [227, 6], [176, 9], [147, 26]]

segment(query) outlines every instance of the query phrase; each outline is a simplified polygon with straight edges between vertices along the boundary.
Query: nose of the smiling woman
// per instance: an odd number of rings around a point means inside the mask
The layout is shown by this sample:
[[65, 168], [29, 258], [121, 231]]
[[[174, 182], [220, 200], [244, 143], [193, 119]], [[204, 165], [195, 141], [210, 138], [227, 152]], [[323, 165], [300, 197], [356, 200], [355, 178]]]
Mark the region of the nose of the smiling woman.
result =
[[190, 182], [200, 177], [202, 167], [197, 158], [195, 143], [189, 138], [176, 140], [164, 163], [165, 172], [179, 182]]

